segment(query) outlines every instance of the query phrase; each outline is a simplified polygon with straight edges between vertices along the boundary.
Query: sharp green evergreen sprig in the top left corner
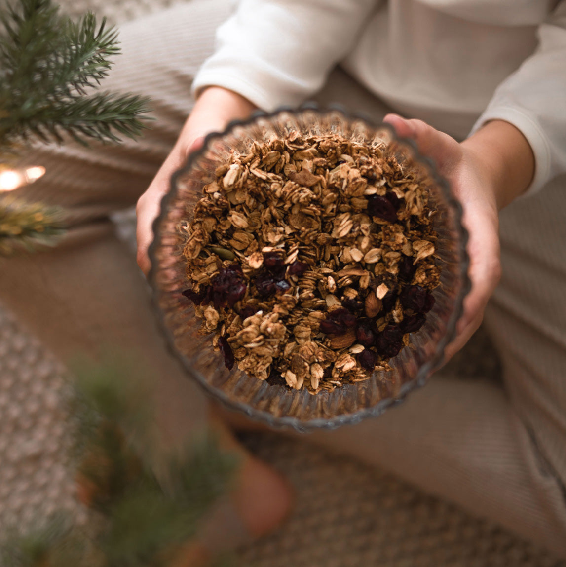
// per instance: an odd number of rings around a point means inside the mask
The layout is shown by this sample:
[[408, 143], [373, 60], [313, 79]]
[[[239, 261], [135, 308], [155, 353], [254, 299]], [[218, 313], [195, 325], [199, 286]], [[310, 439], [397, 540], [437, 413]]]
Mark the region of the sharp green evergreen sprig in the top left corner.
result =
[[78, 22], [52, 0], [20, 0], [0, 15], [0, 154], [67, 134], [117, 142], [146, 127], [148, 99], [94, 92], [120, 53], [117, 31], [92, 14]]

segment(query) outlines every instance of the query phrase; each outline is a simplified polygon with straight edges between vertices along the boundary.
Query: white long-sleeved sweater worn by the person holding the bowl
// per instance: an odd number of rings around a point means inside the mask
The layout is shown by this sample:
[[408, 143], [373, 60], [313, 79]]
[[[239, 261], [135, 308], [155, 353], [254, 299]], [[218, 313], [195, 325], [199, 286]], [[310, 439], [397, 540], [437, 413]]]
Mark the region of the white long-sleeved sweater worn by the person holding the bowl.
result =
[[338, 63], [455, 137], [517, 126], [536, 158], [531, 192], [566, 172], [566, 0], [241, 0], [193, 88], [271, 110], [308, 99]]

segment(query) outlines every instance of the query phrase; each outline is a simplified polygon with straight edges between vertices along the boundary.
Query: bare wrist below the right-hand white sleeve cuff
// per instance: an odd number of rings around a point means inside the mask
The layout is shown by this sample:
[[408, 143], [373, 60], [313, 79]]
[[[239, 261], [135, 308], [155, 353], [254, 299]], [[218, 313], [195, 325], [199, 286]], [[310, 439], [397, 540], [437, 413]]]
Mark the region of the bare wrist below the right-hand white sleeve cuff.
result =
[[482, 168], [499, 210], [523, 194], [533, 180], [533, 150], [509, 122], [488, 122], [461, 145]]

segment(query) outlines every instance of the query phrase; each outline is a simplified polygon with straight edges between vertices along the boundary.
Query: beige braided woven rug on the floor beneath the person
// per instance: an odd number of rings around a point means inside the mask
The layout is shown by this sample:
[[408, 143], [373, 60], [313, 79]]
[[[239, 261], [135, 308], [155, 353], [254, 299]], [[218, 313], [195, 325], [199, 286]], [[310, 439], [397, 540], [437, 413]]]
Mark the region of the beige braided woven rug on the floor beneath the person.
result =
[[[183, 0], [62, 0], [71, 15], [93, 10], [120, 23]], [[5, 0], [0, 0], [0, 7]], [[475, 344], [475, 346], [474, 346]], [[483, 335], [453, 365], [496, 375]], [[474, 356], [475, 352], [483, 356]], [[471, 352], [472, 351], [472, 352]], [[471, 354], [470, 354], [471, 352]], [[474, 362], [484, 367], [477, 369]], [[477, 372], [477, 374], [476, 374]], [[0, 534], [74, 501], [65, 426], [65, 369], [0, 306]], [[471, 518], [395, 477], [272, 434], [244, 442], [294, 485], [297, 505], [275, 534], [241, 549], [246, 567], [566, 567], [499, 527]], [[320, 483], [319, 479], [326, 479]]]

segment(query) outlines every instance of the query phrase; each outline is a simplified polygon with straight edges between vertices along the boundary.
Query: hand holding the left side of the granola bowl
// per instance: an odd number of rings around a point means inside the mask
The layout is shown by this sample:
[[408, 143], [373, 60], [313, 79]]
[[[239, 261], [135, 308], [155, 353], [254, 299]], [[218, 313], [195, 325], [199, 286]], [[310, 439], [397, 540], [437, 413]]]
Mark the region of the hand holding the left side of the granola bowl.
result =
[[206, 134], [221, 132], [230, 121], [247, 118], [254, 109], [249, 100], [221, 87], [209, 87], [198, 97], [171, 153], [137, 203], [137, 262], [146, 276], [151, 268], [147, 249], [153, 239], [153, 221], [169, 189], [171, 175], [202, 146]]

